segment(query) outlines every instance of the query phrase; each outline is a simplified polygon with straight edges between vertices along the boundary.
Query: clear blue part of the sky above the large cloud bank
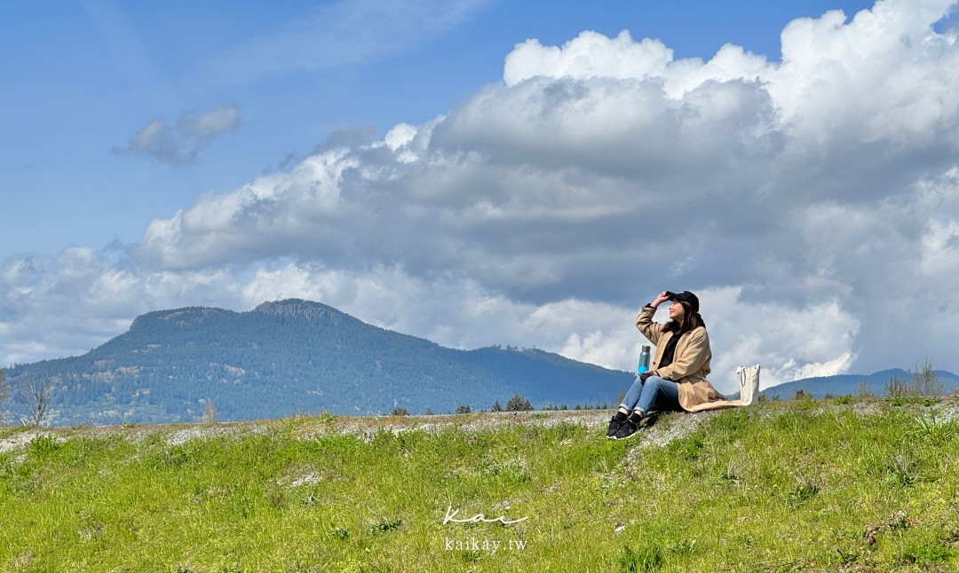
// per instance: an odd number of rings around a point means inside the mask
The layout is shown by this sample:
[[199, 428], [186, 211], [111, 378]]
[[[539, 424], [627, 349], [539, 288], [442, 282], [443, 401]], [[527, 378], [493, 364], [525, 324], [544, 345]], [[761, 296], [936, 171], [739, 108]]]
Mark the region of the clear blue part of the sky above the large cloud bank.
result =
[[[584, 30], [609, 36], [629, 30], [636, 38], [662, 39], [677, 58], [708, 59], [732, 42], [778, 59], [779, 34], [793, 18], [831, 9], [852, 15], [871, 6], [461, 2], [461, 15], [400, 30], [403, 41], [384, 47], [381, 36], [350, 28], [358, 23], [335, 21], [338, 8], [350, 4], [3, 3], [4, 251], [55, 254], [68, 245], [139, 241], [151, 218], [172, 215], [200, 193], [224, 192], [275, 170], [331, 133], [368, 127], [382, 136], [398, 123], [421, 124], [445, 113], [481, 85], [501, 80], [503, 57], [526, 38], [561, 45]], [[456, 5], [436, 3], [447, 4]], [[324, 24], [324, 18], [334, 21]], [[315, 35], [290, 43], [291, 50], [318, 52], [305, 56], [301, 68], [294, 67], [294, 55], [282, 53], [272, 69], [234, 69], [216, 80], [206, 72], [231, 51], [308, 27]], [[353, 42], [328, 46], [323, 34]], [[331, 49], [337, 53], [324, 53]], [[113, 152], [153, 119], [174, 123], [183, 113], [221, 105], [236, 106], [242, 128], [212, 142], [191, 164]]]

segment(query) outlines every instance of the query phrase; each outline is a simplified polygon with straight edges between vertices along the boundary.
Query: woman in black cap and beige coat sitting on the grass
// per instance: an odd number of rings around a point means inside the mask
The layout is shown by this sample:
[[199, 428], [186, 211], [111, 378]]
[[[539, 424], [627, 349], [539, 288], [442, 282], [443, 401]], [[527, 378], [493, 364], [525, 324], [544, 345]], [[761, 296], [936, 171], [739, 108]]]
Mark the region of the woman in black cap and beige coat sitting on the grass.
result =
[[[666, 301], [672, 301], [669, 322], [653, 322], [656, 309]], [[638, 375], [626, 392], [609, 422], [607, 438], [622, 440], [635, 435], [653, 406], [659, 411], [698, 412], [736, 405], [726, 401], [706, 379], [713, 352], [696, 295], [687, 290], [664, 290], [640, 310], [636, 328], [656, 345], [656, 355], [649, 372]]]

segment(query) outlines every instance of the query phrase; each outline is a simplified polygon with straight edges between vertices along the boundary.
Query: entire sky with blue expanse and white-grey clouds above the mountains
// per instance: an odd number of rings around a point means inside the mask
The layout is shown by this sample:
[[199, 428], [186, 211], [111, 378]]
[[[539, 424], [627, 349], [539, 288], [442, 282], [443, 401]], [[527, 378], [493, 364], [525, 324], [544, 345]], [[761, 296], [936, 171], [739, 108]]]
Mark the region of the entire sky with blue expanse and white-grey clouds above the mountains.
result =
[[688, 288], [720, 387], [959, 370], [954, 13], [2, 3], [0, 363], [296, 296], [626, 369]]

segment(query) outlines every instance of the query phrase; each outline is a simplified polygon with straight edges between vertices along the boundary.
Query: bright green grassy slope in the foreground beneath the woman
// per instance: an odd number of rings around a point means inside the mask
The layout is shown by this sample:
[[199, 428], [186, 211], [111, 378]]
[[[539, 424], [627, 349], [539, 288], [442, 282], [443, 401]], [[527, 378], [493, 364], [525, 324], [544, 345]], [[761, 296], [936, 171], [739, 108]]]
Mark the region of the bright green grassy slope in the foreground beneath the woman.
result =
[[959, 401], [0, 428], [3, 571], [955, 571]]

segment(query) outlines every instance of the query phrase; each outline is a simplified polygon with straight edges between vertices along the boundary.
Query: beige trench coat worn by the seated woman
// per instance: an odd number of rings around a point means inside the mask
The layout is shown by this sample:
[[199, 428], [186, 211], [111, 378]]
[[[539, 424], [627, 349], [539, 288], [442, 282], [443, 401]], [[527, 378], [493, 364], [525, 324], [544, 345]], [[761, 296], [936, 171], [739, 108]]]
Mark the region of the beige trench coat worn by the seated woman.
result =
[[657, 366], [663, 358], [667, 341], [675, 332], [663, 332], [663, 323], [653, 322], [654, 314], [656, 309], [646, 305], [636, 317], [636, 328], [656, 346], [656, 354], [649, 371], [658, 370], [661, 378], [677, 382], [679, 403], [683, 409], [699, 412], [741, 405], [739, 401], [726, 400], [706, 378], [710, 373], [713, 351], [710, 350], [710, 336], [705, 327], [698, 327], [683, 334], [676, 342], [672, 363], [663, 368]]

